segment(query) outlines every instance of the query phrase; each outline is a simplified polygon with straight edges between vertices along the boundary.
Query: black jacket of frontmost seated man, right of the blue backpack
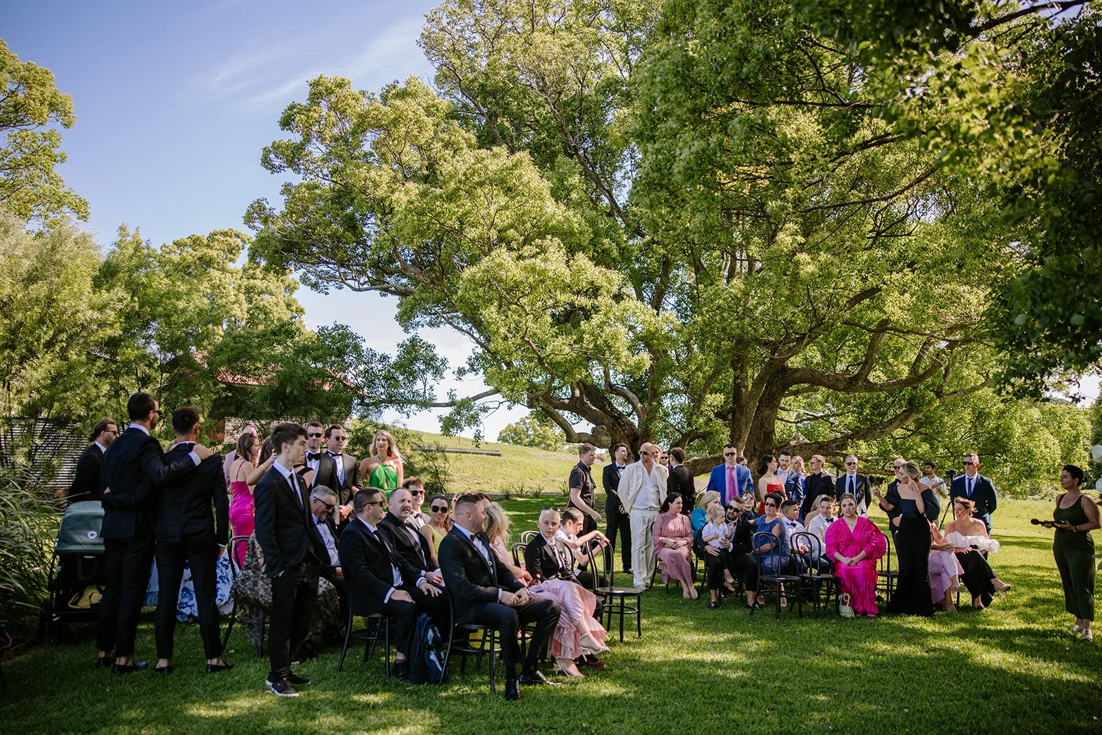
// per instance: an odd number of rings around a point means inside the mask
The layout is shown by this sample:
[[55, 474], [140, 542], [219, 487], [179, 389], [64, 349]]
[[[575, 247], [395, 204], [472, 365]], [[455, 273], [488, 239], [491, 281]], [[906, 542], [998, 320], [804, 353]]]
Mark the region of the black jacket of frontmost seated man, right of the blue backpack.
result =
[[[486, 537], [482, 539], [488, 549]], [[469, 623], [485, 605], [496, 603], [499, 590], [517, 592], [525, 586], [493, 551], [489, 559], [490, 565], [487, 565], [474, 542], [458, 527], [440, 541], [440, 571], [455, 605], [456, 623]]]

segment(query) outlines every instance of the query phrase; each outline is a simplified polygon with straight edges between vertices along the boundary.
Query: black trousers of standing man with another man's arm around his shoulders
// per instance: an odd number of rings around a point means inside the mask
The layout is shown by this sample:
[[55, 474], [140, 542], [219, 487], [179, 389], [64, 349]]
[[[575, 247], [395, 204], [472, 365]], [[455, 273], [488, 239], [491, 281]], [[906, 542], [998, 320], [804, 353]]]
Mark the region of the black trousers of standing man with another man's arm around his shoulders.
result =
[[218, 631], [218, 606], [215, 603], [218, 542], [212, 533], [185, 536], [180, 541], [158, 541], [156, 556], [156, 657], [171, 659], [176, 634], [176, 603], [180, 582], [184, 579], [184, 562], [192, 569], [195, 607], [198, 609], [199, 635], [206, 658], [222, 656], [222, 634]]

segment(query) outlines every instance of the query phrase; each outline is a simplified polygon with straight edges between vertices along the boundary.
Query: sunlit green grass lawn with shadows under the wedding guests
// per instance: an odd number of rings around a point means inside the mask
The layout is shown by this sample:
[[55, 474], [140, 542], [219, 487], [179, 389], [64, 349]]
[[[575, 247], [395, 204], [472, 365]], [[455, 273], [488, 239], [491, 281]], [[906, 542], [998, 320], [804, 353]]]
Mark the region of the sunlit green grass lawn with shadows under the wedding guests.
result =
[[[542, 505], [506, 502], [515, 530]], [[932, 619], [818, 620], [754, 614], [667, 594], [644, 596], [644, 637], [611, 640], [608, 670], [563, 687], [528, 688], [519, 703], [490, 694], [485, 675], [453, 670], [442, 688], [382, 675], [379, 655], [335, 670], [326, 649], [296, 669], [314, 685], [298, 700], [268, 693], [267, 660], [235, 631], [230, 672], [206, 675], [198, 630], [177, 629], [176, 672], [115, 677], [96, 670], [90, 627], [72, 647], [4, 661], [0, 728], [32, 732], [1102, 732], [1102, 639], [1079, 644], [1051, 555], [1051, 531], [1028, 523], [1047, 504], [1007, 500], [992, 559], [1014, 588], [988, 610]], [[966, 599], [961, 601], [966, 604]], [[138, 638], [153, 657], [148, 612]]]

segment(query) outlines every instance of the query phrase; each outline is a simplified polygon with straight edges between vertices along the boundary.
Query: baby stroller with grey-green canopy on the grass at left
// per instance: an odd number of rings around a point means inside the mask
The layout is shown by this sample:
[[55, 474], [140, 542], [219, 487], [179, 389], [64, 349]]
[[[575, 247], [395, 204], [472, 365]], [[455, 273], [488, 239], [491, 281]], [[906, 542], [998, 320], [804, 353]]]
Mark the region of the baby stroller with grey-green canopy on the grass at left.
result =
[[50, 560], [46, 604], [39, 620], [39, 638], [52, 645], [72, 642], [71, 623], [99, 619], [104, 585], [104, 508], [99, 500], [74, 502], [65, 509], [54, 554]]

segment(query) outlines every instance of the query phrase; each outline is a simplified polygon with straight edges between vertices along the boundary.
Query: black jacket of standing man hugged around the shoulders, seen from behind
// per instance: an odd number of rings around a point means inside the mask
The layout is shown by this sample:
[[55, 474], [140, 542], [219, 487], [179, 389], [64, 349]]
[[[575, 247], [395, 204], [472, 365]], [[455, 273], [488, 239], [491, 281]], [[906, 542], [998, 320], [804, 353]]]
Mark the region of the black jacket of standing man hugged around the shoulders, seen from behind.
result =
[[[176, 444], [164, 455], [173, 462], [186, 457], [193, 444]], [[229, 500], [226, 498], [226, 476], [222, 472], [222, 455], [212, 454], [194, 473], [173, 477], [161, 488], [156, 515], [156, 540], [180, 541], [181, 537], [209, 534], [210, 541], [225, 545], [229, 541]], [[210, 504], [214, 502], [214, 514]]]

